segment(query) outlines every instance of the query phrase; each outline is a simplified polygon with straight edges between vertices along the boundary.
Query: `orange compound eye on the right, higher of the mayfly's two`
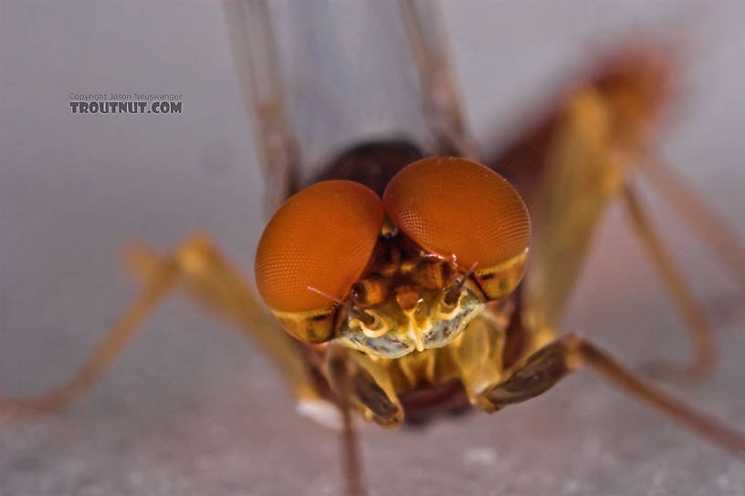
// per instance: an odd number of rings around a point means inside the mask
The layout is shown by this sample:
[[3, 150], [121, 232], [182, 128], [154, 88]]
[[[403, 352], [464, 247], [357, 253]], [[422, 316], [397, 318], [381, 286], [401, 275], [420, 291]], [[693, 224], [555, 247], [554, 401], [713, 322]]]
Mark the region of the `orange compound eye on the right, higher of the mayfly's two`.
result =
[[456, 257], [489, 299], [511, 293], [525, 269], [530, 216], [498, 173], [470, 160], [418, 160], [396, 174], [383, 193], [391, 221], [431, 253]]

